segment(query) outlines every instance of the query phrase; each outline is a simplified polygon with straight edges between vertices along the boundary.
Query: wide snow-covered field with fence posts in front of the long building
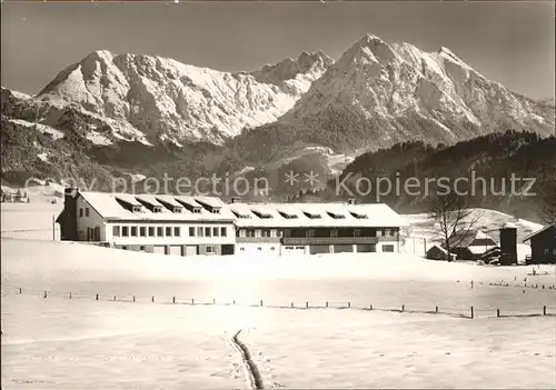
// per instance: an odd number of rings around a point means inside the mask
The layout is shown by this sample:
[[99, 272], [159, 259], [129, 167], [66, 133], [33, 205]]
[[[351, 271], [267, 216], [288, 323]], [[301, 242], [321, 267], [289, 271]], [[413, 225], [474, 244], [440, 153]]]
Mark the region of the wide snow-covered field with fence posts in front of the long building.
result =
[[[3, 204], [2, 231], [59, 208]], [[556, 386], [554, 266], [173, 258], [29, 234], [2, 232], [2, 389], [254, 388], [250, 372], [266, 389]]]

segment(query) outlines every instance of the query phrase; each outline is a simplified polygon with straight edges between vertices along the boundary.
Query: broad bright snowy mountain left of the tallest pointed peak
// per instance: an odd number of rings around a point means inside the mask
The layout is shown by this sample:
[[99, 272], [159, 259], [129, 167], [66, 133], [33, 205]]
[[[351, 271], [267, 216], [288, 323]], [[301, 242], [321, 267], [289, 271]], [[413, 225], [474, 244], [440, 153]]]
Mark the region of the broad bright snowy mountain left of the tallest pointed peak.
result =
[[288, 111], [331, 60], [304, 53], [254, 73], [227, 73], [150, 56], [96, 51], [61, 71], [37, 97], [105, 118], [113, 133], [151, 143], [216, 144]]

